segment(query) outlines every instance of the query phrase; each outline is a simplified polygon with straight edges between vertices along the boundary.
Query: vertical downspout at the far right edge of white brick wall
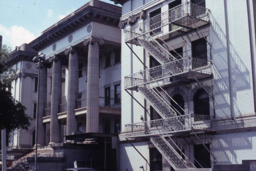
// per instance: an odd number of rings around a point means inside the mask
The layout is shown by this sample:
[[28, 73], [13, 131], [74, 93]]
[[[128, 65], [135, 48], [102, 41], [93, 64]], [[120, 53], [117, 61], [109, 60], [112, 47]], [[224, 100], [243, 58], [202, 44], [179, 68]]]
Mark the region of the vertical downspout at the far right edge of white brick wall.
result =
[[[254, 2], [254, 1], [253, 1]], [[254, 2], [255, 3], [255, 2]], [[253, 104], [254, 104], [254, 113], [256, 114], [256, 76], [255, 76], [255, 55], [253, 51], [253, 33], [252, 33], [252, 23], [251, 23], [251, 14], [250, 14], [250, 2], [246, 1], [247, 5], [247, 17], [248, 17], [248, 31], [249, 31], [249, 41], [250, 41], [250, 55], [251, 55], [251, 72], [252, 72], [252, 90], [253, 90]]]

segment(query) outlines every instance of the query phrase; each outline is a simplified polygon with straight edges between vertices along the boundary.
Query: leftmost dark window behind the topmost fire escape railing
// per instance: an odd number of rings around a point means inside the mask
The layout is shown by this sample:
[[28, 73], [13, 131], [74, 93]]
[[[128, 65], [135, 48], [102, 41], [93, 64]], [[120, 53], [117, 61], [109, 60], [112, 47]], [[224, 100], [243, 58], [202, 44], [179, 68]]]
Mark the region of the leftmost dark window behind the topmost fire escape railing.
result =
[[152, 30], [151, 35], [161, 32], [161, 8], [150, 13], [150, 30]]

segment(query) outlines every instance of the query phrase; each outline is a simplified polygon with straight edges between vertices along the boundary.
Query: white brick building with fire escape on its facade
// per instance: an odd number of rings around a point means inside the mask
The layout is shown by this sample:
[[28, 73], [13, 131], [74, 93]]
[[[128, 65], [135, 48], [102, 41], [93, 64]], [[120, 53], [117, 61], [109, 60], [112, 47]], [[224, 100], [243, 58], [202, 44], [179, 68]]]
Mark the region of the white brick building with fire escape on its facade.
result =
[[112, 1], [122, 5], [120, 170], [253, 168], [255, 1]]

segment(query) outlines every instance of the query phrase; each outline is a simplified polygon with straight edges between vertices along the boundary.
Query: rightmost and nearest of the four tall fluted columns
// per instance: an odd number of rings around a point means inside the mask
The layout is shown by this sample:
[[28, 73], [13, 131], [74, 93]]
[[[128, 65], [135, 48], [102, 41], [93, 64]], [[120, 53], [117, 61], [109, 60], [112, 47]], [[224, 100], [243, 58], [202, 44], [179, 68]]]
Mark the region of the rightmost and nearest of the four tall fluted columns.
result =
[[87, 71], [87, 133], [99, 132], [99, 44], [103, 39], [90, 37], [83, 45], [89, 46]]

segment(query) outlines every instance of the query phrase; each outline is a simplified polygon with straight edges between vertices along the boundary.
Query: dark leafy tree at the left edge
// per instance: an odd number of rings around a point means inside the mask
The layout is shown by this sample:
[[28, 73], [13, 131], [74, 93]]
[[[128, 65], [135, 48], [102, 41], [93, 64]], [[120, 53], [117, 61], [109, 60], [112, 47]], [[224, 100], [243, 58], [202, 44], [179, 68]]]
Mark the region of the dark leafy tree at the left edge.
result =
[[0, 129], [5, 129], [7, 133], [15, 129], [28, 130], [32, 118], [25, 114], [26, 107], [22, 103], [15, 101], [11, 93], [7, 91], [10, 86], [11, 73], [7, 72], [5, 61], [10, 59], [8, 55], [10, 48], [3, 46], [0, 50]]

